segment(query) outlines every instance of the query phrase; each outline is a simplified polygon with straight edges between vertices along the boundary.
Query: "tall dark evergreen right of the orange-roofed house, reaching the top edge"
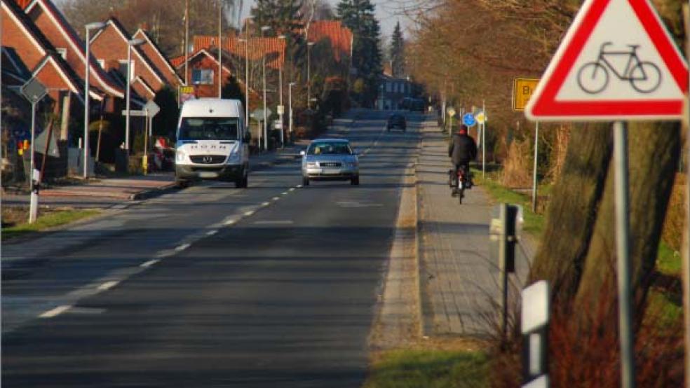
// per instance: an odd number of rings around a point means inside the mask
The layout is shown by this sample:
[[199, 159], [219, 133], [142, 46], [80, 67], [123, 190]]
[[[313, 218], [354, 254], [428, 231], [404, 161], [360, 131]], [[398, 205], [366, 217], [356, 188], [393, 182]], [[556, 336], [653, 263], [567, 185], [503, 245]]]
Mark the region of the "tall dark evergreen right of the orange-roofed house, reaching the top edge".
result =
[[364, 83], [359, 102], [373, 106], [381, 74], [380, 28], [374, 5], [370, 0], [341, 0], [337, 11], [343, 24], [353, 32], [352, 65], [357, 79]]

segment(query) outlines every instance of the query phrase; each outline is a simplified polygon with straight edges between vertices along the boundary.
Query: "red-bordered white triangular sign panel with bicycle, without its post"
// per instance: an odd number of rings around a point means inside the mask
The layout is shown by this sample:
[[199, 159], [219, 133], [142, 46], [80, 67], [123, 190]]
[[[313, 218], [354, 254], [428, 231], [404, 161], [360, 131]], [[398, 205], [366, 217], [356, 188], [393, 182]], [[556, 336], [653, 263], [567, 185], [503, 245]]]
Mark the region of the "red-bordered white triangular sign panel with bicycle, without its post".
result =
[[679, 120], [687, 91], [687, 64], [649, 0], [586, 0], [525, 114]]

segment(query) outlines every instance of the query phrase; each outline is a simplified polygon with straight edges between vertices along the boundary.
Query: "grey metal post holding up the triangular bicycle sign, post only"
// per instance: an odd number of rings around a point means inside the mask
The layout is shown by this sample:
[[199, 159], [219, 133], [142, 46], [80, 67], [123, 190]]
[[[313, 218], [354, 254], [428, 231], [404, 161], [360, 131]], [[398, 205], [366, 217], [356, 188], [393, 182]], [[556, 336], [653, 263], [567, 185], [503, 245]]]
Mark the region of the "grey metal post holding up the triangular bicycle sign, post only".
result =
[[616, 256], [618, 267], [618, 329], [621, 333], [621, 387], [635, 387], [635, 346], [632, 333], [630, 292], [630, 223], [628, 214], [628, 128], [614, 123], [614, 162], [616, 163]]

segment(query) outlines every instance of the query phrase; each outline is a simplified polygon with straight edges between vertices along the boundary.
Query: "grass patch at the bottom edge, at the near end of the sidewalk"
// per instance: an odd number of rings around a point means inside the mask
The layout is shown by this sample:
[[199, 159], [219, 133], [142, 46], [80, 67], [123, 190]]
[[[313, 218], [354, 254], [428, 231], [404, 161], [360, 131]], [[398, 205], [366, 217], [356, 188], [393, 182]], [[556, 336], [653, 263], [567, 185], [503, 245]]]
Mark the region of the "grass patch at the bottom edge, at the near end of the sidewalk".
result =
[[488, 365], [480, 350], [391, 350], [374, 361], [364, 388], [489, 387]]

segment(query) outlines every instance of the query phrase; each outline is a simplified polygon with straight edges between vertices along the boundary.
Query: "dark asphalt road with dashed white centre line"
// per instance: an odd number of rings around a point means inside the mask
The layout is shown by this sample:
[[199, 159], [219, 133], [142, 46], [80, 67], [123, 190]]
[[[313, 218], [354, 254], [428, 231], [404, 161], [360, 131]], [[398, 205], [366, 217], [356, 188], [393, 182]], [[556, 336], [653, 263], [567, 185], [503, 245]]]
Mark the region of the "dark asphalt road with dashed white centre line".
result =
[[299, 187], [294, 162], [141, 202], [27, 261], [9, 249], [3, 387], [359, 387], [418, 142], [360, 116], [330, 134], [360, 151], [360, 186]]

